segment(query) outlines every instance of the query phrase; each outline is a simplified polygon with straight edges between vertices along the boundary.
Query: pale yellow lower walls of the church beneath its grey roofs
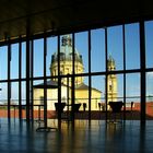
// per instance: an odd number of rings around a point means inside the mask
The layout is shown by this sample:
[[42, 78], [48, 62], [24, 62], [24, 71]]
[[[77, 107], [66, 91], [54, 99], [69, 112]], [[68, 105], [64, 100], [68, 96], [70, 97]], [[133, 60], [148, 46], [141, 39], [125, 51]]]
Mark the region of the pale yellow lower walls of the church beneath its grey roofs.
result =
[[[67, 103], [67, 86], [61, 87], [61, 101], [62, 103]], [[34, 89], [34, 105], [43, 105], [44, 102], [44, 90], [43, 89]], [[98, 103], [101, 102], [101, 92], [96, 90], [92, 90], [91, 97], [91, 109], [98, 110]], [[47, 108], [48, 110], [55, 110], [55, 103], [58, 102], [58, 90], [57, 89], [48, 89], [47, 90]], [[89, 109], [89, 90], [76, 90], [75, 91], [75, 103], [81, 103], [80, 110], [83, 110], [83, 103], [86, 103], [86, 110]], [[69, 90], [69, 104], [71, 104], [71, 90]], [[34, 109], [38, 109], [38, 106], [35, 106]], [[67, 110], [67, 108], [64, 108]]]

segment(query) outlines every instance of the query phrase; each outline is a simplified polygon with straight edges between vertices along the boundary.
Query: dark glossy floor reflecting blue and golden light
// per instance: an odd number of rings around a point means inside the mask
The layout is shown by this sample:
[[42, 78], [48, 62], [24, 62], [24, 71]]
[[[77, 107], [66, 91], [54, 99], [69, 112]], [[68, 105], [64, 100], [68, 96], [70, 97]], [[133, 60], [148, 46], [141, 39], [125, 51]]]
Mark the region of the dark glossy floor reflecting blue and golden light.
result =
[[75, 120], [48, 127], [57, 130], [36, 131], [43, 122], [0, 119], [1, 153], [153, 153], [153, 121], [138, 120], [111, 123], [105, 120]]

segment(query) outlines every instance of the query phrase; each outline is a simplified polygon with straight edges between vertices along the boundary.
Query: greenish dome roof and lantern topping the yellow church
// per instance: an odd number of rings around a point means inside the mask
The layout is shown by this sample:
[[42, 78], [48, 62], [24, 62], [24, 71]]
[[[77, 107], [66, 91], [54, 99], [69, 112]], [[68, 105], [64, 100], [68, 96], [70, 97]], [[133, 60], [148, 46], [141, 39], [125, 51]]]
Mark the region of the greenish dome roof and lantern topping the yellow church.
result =
[[[73, 48], [72, 48], [72, 38], [70, 35], [64, 35], [61, 39], [60, 47], [60, 61], [72, 61], [73, 59]], [[74, 49], [75, 61], [83, 63], [82, 56], [76, 49]], [[51, 56], [51, 63], [58, 61], [58, 51]]]

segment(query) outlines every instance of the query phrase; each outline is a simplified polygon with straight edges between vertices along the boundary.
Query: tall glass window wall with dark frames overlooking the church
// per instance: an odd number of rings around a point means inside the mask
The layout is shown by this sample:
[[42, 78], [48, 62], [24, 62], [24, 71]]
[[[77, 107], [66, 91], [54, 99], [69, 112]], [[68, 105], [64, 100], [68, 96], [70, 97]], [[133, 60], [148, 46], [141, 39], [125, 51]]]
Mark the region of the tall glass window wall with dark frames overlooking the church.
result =
[[[85, 102], [89, 118], [92, 119], [91, 113], [99, 109], [98, 103], [105, 105], [107, 114], [111, 96], [111, 101], [116, 98], [126, 104], [125, 111], [131, 109], [132, 102], [139, 119], [152, 119], [152, 30], [153, 22], [148, 21], [68, 34], [71, 37], [69, 57], [66, 48], [62, 48], [67, 43], [62, 39], [66, 35], [44, 36], [26, 42], [21, 38], [16, 44], [9, 44], [8, 39], [7, 45], [0, 47], [1, 109], [7, 109], [9, 118], [12, 117], [13, 107], [19, 110], [20, 118], [24, 114], [21, 109], [25, 110], [26, 118], [34, 117], [37, 101], [34, 89], [43, 83], [44, 86], [39, 89], [40, 104], [46, 106], [44, 109], [51, 109], [45, 104], [52, 105], [56, 101]], [[115, 64], [111, 71], [107, 62], [109, 57]], [[70, 62], [63, 60], [68, 58]], [[54, 60], [57, 62], [52, 66]], [[79, 60], [83, 66], [76, 62]], [[50, 87], [47, 83], [50, 80], [57, 81], [54, 97], [49, 95], [51, 91], [48, 92]], [[61, 92], [64, 89], [66, 95]], [[85, 93], [84, 99], [78, 90]], [[95, 91], [101, 96], [96, 97]]]

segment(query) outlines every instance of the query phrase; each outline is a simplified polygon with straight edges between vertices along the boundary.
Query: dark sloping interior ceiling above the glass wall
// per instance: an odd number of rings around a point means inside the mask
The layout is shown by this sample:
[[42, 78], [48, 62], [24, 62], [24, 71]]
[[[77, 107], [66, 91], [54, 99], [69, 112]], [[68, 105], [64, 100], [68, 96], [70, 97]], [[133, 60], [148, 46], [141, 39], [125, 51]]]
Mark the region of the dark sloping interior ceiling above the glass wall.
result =
[[153, 19], [152, 0], [0, 0], [0, 40]]

